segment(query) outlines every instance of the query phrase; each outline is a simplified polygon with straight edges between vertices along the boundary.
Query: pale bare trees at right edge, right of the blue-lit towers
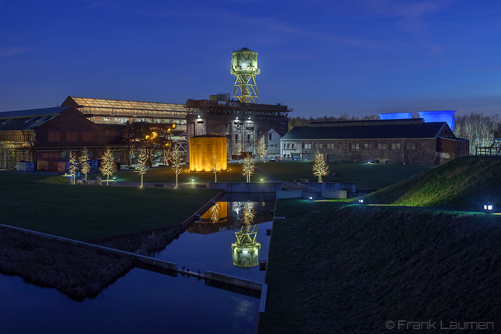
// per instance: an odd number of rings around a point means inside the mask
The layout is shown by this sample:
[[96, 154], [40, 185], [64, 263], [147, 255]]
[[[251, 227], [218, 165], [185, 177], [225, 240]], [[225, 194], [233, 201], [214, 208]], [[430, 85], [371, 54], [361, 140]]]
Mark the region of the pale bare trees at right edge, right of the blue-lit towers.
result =
[[470, 141], [470, 154], [475, 154], [476, 146], [491, 146], [494, 139], [501, 138], [499, 116], [483, 116], [470, 113], [459, 117], [454, 125], [454, 135]]

